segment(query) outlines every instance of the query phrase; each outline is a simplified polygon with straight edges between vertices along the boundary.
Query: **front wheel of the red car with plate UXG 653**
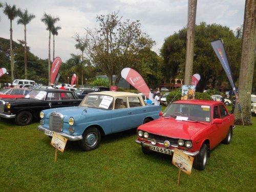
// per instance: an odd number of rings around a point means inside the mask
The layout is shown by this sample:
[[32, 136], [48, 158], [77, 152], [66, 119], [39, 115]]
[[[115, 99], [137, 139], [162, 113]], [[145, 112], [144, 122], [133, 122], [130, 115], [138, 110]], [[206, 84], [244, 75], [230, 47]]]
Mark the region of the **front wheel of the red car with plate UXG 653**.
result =
[[205, 143], [202, 144], [199, 154], [194, 159], [194, 167], [198, 170], [204, 170], [209, 157], [209, 150]]

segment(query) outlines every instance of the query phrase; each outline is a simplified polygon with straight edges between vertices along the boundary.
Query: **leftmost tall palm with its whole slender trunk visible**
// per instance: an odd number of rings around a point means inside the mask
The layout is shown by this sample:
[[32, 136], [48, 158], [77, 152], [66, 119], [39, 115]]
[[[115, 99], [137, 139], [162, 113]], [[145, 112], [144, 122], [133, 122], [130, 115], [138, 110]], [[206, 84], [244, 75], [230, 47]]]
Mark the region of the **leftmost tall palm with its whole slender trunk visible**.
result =
[[12, 20], [16, 18], [20, 13], [20, 9], [17, 9], [15, 5], [11, 6], [5, 3], [4, 14], [10, 19], [10, 50], [11, 50], [11, 78], [14, 80], [14, 61], [12, 50]]

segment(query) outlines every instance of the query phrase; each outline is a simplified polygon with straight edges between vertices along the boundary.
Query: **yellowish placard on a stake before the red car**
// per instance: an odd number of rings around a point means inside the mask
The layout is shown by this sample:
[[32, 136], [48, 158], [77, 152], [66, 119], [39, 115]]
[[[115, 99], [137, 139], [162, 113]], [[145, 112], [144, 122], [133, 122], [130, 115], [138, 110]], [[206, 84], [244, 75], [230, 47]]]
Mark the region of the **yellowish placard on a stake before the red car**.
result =
[[174, 149], [173, 155], [173, 164], [185, 172], [187, 175], [190, 175], [191, 169], [193, 166], [194, 157], [191, 157], [182, 151], [178, 150], [178, 148]]

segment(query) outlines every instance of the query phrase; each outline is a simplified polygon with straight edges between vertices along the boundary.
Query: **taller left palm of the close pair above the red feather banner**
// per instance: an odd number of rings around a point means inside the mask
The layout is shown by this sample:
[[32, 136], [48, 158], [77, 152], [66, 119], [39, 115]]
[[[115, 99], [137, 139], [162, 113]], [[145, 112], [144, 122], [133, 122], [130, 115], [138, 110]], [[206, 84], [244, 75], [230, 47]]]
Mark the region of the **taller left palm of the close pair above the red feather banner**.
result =
[[51, 31], [54, 27], [54, 24], [59, 20], [58, 17], [52, 17], [51, 15], [44, 14], [44, 16], [41, 18], [41, 22], [46, 24], [47, 28], [46, 30], [49, 31], [49, 51], [48, 51], [48, 81], [49, 84], [51, 82]]

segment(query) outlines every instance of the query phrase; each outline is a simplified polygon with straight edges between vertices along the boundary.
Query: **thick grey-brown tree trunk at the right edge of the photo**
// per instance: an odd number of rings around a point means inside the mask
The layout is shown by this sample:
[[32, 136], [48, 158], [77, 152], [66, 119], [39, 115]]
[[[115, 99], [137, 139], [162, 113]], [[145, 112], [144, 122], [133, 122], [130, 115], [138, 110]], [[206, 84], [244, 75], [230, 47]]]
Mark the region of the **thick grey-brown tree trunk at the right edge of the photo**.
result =
[[[256, 48], [256, 0], [246, 0], [244, 10], [243, 44], [241, 67], [239, 73], [239, 98], [245, 125], [251, 124], [251, 89], [255, 66]], [[235, 112], [236, 124], [242, 124], [242, 116], [238, 109]]]

